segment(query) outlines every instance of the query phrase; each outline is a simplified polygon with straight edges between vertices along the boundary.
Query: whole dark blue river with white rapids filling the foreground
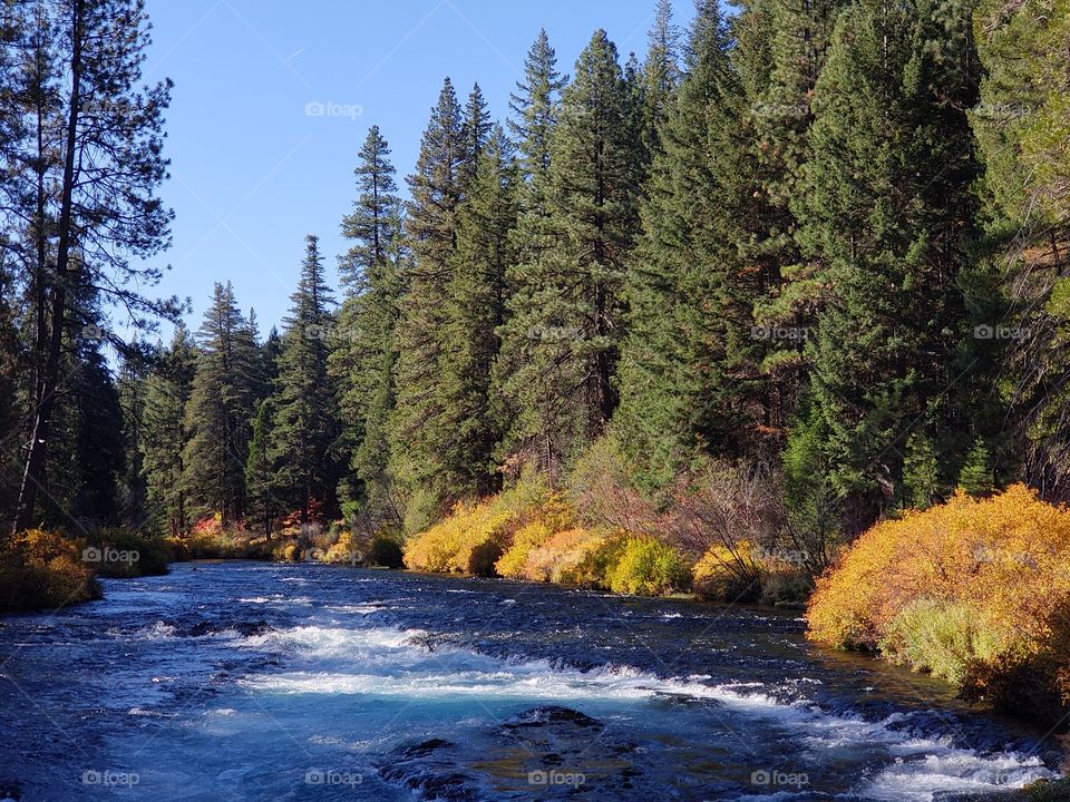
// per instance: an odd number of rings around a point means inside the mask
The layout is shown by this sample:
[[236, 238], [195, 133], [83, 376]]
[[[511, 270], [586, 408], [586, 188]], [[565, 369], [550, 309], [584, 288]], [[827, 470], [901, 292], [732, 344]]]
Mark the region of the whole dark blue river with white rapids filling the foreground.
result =
[[1043, 733], [798, 614], [184, 564], [0, 619], [0, 800], [955, 800]]

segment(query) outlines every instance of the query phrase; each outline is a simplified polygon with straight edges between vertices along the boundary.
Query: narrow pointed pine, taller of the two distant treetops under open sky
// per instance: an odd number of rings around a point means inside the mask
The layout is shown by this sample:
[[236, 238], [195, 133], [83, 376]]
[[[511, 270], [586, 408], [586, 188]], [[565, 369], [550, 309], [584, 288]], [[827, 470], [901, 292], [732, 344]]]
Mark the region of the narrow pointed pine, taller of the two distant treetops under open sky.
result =
[[313, 501], [333, 507], [335, 485], [328, 452], [337, 436], [337, 411], [327, 373], [333, 299], [319, 239], [311, 234], [305, 238], [301, 281], [290, 301], [279, 358], [271, 458], [279, 463], [280, 480], [304, 525]]

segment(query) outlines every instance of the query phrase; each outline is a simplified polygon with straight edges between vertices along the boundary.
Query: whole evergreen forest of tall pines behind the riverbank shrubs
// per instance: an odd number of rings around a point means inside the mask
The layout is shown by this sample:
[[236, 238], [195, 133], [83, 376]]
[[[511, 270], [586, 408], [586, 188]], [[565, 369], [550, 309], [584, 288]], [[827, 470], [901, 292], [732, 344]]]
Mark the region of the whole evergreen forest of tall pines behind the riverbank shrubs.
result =
[[368, 130], [341, 286], [310, 234], [268, 332], [228, 283], [196, 331], [143, 294], [142, 3], [2, 14], [4, 536], [412, 535], [607, 452], [654, 514], [727, 466], [821, 548], [959, 487], [1070, 500], [1064, 0], [661, 0], [572, 66], [541, 31], [507, 119], [444, 81], [407, 193]]

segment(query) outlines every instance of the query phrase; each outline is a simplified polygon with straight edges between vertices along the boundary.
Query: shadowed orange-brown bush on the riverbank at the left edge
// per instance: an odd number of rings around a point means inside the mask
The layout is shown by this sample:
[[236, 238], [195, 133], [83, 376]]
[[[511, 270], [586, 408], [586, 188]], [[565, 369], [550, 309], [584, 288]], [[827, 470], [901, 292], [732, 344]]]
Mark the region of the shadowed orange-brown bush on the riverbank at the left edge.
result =
[[0, 612], [64, 607], [100, 598], [81, 538], [29, 529], [0, 541]]

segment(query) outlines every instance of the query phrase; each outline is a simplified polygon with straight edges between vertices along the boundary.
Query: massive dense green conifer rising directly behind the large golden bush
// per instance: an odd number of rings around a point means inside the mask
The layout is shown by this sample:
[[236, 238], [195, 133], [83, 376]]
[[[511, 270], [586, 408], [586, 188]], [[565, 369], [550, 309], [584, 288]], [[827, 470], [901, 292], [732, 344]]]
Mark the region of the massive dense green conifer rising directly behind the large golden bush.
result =
[[856, 3], [815, 92], [805, 225], [831, 295], [807, 349], [852, 527], [898, 496], [908, 431], [935, 432], [943, 462], [959, 426], [946, 391], [965, 335], [956, 277], [977, 170], [962, 109], [976, 75], [959, 69], [975, 61], [969, 39], [947, 51], [941, 13], [961, 23], [967, 6]]

